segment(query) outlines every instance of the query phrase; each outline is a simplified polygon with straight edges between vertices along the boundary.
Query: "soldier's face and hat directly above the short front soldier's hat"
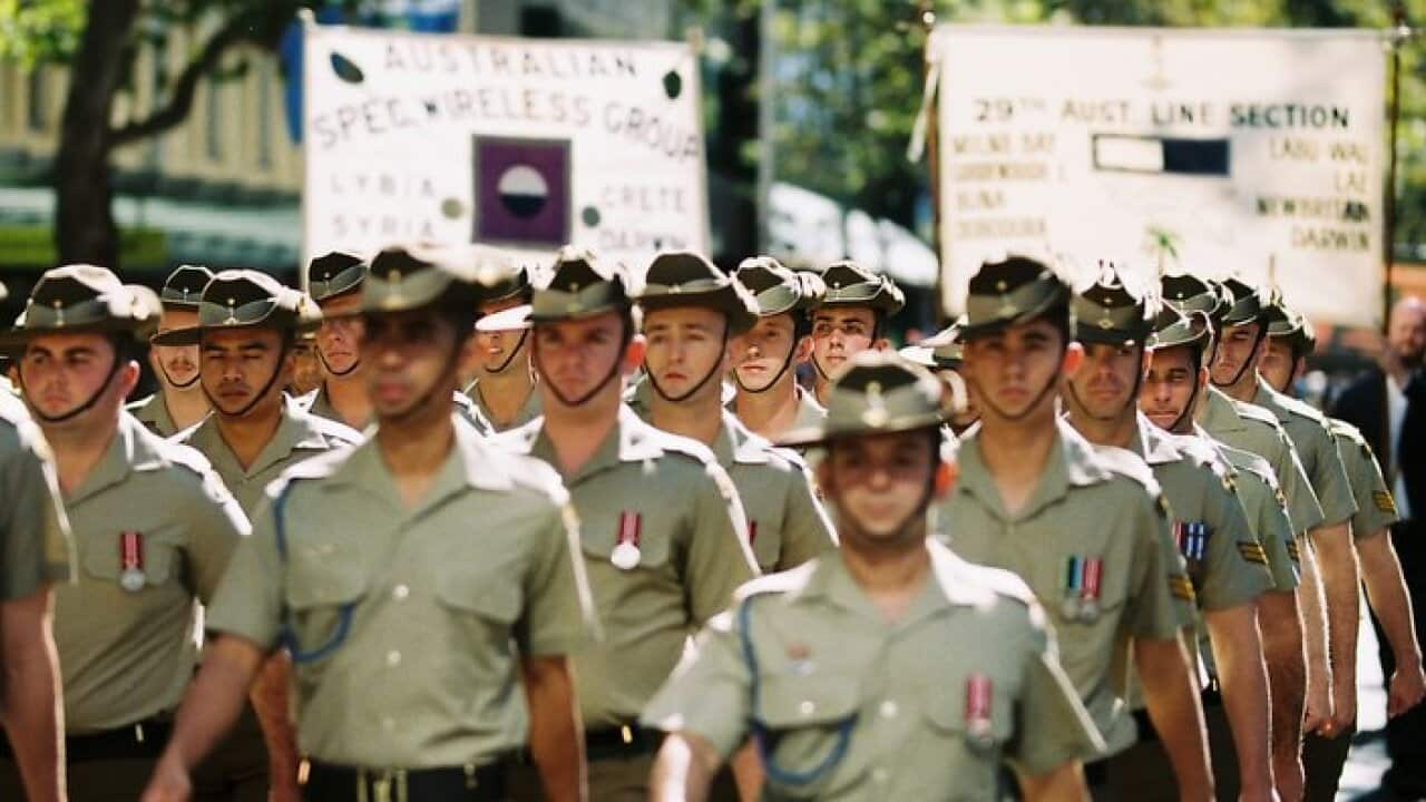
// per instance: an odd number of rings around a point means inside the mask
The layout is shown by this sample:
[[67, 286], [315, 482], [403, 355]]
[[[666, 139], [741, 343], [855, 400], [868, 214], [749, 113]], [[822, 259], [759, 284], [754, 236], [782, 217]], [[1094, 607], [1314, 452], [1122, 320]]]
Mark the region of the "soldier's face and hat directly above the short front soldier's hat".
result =
[[890, 275], [860, 264], [836, 261], [821, 271], [827, 290], [811, 313], [813, 392], [827, 404], [827, 388], [841, 365], [861, 351], [890, 345], [887, 321], [906, 305], [906, 294]]

